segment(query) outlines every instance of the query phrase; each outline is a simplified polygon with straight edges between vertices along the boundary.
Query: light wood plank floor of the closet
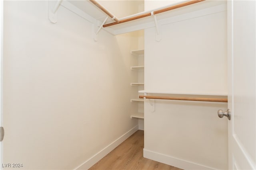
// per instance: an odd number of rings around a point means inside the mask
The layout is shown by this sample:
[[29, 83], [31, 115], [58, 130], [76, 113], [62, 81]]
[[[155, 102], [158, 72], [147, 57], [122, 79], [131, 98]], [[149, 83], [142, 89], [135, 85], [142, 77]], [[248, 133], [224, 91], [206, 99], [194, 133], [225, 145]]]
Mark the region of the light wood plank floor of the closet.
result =
[[181, 170], [143, 157], [144, 131], [138, 130], [89, 170]]

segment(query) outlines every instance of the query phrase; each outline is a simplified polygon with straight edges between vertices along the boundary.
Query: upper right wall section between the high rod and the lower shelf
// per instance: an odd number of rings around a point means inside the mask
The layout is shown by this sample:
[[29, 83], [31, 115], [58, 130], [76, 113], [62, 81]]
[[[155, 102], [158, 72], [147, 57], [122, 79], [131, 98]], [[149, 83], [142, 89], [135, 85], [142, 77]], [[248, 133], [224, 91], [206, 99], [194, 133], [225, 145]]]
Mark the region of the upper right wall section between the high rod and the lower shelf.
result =
[[[145, 72], [150, 74], [150, 78], [145, 79], [145, 89], [227, 94], [225, 24], [226, 14], [217, 13], [164, 25], [160, 43], [156, 43], [153, 36], [145, 36], [149, 41], [147, 48], [154, 49], [145, 52], [151, 57], [147, 57], [145, 64], [154, 62], [151, 67], [145, 67]], [[155, 29], [148, 32], [152, 34]]]

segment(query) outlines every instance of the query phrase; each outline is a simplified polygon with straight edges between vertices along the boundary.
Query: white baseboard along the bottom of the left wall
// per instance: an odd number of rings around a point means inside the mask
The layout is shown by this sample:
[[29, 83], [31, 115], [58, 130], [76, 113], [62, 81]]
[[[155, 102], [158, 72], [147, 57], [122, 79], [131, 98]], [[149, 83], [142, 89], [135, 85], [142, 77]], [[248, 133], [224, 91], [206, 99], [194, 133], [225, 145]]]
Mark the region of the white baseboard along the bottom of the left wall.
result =
[[136, 131], [138, 131], [139, 127], [136, 125], [132, 129], [130, 129], [128, 132], [126, 132], [124, 135], [116, 139], [114, 142], [110, 143], [107, 147], [100, 150], [100, 152], [96, 153], [94, 156], [86, 160], [84, 163], [82, 163], [80, 166], [75, 168], [75, 170], [87, 170], [94, 164], [96, 164], [100, 159], [102, 159], [104, 156], [106, 156], [109, 152], [111, 152], [113, 149], [115, 149], [118, 145], [120, 145], [123, 141], [125, 141], [128, 137], [130, 137], [132, 134], [134, 134]]

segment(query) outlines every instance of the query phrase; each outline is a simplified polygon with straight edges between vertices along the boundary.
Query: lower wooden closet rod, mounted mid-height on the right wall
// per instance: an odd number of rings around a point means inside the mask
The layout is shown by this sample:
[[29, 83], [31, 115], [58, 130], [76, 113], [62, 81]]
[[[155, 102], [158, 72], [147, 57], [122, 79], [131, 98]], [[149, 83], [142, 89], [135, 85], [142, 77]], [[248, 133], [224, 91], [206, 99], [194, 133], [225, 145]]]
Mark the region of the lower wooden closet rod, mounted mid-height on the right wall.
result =
[[168, 97], [168, 96], [139, 96], [143, 99], [164, 99], [164, 100], [189, 100], [189, 101], [202, 101], [202, 102], [228, 102], [228, 99], [220, 98], [187, 98], [187, 97]]

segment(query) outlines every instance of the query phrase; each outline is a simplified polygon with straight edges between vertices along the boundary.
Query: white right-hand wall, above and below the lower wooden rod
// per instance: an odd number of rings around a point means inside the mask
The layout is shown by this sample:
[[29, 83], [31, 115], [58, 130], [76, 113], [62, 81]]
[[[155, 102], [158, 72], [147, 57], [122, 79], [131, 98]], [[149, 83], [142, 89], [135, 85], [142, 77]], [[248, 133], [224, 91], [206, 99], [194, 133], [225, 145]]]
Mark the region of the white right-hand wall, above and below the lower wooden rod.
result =
[[[226, 12], [162, 25], [160, 42], [155, 31], [144, 32], [146, 91], [227, 94]], [[228, 119], [217, 115], [227, 104], [155, 100], [151, 112], [145, 100], [144, 108], [144, 157], [183, 169], [228, 168]]]

